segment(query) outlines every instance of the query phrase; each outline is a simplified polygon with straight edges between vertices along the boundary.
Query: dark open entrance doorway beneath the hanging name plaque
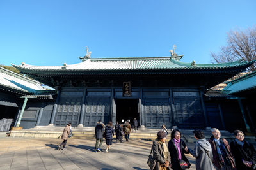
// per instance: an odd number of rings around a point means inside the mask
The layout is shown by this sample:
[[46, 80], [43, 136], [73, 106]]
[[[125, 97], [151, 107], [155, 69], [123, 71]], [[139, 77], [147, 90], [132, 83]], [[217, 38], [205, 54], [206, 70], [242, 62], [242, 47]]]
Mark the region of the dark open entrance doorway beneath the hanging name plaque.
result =
[[130, 123], [133, 124], [134, 118], [138, 120], [139, 125], [138, 99], [116, 99], [116, 121], [130, 120]]

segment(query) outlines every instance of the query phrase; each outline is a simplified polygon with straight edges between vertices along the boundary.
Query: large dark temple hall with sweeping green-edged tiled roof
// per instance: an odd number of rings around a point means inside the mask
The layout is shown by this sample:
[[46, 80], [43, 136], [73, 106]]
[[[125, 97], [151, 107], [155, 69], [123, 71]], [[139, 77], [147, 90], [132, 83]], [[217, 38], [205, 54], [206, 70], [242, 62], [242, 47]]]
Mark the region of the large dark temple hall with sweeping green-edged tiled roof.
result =
[[134, 118], [145, 128], [165, 124], [169, 129], [228, 129], [225, 119], [232, 115], [225, 117], [207, 89], [245, 71], [254, 61], [197, 64], [181, 62], [182, 56], [90, 58], [87, 53], [78, 64], [13, 64], [20, 73], [56, 89], [52, 100], [28, 99], [17, 118], [22, 113], [24, 129], [68, 122], [73, 127], [95, 127], [98, 120], [115, 124]]

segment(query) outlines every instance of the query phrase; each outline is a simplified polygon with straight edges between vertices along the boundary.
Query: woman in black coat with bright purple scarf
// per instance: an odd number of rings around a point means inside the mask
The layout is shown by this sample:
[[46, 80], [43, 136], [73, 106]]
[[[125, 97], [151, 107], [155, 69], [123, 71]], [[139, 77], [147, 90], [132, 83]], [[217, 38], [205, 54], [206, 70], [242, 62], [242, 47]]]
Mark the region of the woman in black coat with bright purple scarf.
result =
[[[179, 160], [184, 160], [190, 167], [191, 164], [189, 163], [187, 157], [185, 156], [185, 153], [188, 154], [188, 148], [186, 146], [186, 143], [180, 139], [180, 131], [179, 129], [174, 129], [171, 133], [171, 140], [168, 143], [168, 149], [171, 156], [171, 164], [172, 169], [180, 170], [182, 169], [180, 167]], [[187, 150], [187, 151], [186, 151]]]

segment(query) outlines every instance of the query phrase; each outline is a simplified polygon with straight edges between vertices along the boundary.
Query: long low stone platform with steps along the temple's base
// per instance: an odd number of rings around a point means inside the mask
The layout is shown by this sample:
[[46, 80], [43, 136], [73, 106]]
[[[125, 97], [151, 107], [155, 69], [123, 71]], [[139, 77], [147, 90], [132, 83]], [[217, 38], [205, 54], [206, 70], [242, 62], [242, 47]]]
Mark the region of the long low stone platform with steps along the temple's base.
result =
[[[63, 132], [64, 127], [55, 127], [55, 126], [44, 126], [44, 127], [35, 127], [32, 129], [22, 129], [22, 130], [12, 130], [10, 132], [11, 137], [33, 137], [33, 138], [60, 138]], [[71, 138], [73, 139], [95, 139], [94, 134], [94, 127], [72, 127], [72, 134]], [[138, 131], [131, 132], [130, 138], [131, 139], [142, 139], [152, 141], [156, 139], [157, 132], [159, 129], [147, 129], [147, 128], [140, 128]], [[170, 133], [172, 129], [168, 132], [167, 139], [170, 139]], [[191, 129], [181, 129], [182, 139], [188, 143], [194, 143], [196, 140], [193, 135], [193, 130]], [[234, 135], [227, 131], [220, 131], [221, 137], [231, 141], [234, 139]], [[211, 131], [204, 131], [205, 138], [211, 137]], [[115, 138], [115, 136], [114, 136]], [[256, 137], [255, 136], [246, 136], [246, 140], [253, 143], [256, 146]]]

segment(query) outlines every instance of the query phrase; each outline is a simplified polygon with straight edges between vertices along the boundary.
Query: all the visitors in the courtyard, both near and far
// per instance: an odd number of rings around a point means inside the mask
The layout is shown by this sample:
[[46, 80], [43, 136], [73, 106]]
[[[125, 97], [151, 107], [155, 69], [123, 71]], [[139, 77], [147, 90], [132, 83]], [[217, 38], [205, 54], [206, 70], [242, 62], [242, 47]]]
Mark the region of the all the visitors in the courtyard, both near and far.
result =
[[[129, 142], [131, 132], [137, 131], [138, 122], [136, 118], [133, 121], [133, 128], [130, 121], [116, 122], [113, 127], [112, 122], [104, 125], [101, 120], [95, 126], [95, 152], [102, 152], [101, 146], [103, 138], [106, 141], [106, 152], [109, 152], [110, 145], [114, 134], [116, 134], [116, 143], [125, 136], [125, 140]], [[256, 169], [256, 152], [252, 143], [244, 140], [244, 133], [240, 130], [234, 131], [235, 139], [228, 143], [225, 138], [221, 138], [221, 133], [218, 129], [211, 129], [212, 136], [208, 140], [205, 139], [204, 132], [201, 130], [193, 131], [196, 139], [195, 147], [188, 148], [185, 141], [181, 139], [179, 129], [173, 129], [171, 139], [166, 145], [166, 137], [168, 130], [163, 124], [161, 130], [157, 132], [157, 138], [153, 141], [152, 157], [156, 164], [152, 169], [189, 169], [191, 166], [185, 154], [191, 154], [196, 158], [197, 170], [247, 170]], [[61, 139], [63, 142], [58, 146], [59, 150], [65, 150], [67, 139], [72, 134], [71, 124], [68, 123], [63, 130]], [[61, 146], [63, 147], [61, 148]], [[150, 153], [151, 154], [151, 153]]]

